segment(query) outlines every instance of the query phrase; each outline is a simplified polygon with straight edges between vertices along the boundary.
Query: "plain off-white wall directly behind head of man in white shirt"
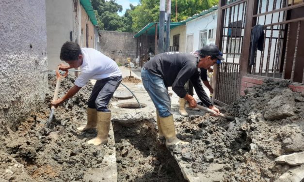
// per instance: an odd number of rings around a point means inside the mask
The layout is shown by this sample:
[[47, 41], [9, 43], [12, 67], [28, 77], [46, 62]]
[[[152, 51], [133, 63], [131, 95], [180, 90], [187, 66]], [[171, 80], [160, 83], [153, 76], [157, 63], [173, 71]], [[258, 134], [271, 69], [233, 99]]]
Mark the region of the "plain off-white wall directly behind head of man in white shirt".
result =
[[46, 0], [47, 36], [48, 36], [48, 69], [55, 70], [62, 63], [61, 46], [70, 41], [78, 43], [80, 3], [77, 0]]

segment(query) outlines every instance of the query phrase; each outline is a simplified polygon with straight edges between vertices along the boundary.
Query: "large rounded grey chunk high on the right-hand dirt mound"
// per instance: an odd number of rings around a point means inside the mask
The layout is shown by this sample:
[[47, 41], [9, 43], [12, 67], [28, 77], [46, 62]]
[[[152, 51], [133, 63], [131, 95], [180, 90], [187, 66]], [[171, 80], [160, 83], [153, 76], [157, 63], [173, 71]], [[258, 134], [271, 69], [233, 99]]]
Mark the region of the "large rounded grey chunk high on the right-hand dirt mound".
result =
[[284, 90], [282, 95], [275, 96], [264, 106], [266, 120], [281, 120], [294, 115], [295, 101], [292, 91]]

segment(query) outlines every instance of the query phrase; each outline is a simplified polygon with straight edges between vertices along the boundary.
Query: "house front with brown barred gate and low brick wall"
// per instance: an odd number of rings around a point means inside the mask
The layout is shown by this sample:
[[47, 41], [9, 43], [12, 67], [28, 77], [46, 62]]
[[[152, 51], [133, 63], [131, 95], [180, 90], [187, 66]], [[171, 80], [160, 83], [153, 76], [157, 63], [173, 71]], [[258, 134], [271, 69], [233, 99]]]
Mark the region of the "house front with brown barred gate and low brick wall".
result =
[[[304, 92], [303, 21], [303, 0], [220, 0], [216, 44], [225, 61], [216, 67], [214, 101], [229, 105], [267, 78]], [[261, 50], [252, 49], [257, 25]]]

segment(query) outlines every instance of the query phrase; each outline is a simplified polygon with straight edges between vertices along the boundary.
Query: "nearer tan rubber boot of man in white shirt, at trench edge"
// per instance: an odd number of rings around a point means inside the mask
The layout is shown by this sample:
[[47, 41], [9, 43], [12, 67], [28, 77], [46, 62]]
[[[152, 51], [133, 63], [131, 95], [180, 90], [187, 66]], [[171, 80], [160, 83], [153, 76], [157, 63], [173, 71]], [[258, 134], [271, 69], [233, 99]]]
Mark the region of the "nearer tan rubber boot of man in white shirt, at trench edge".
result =
[[97, 111], [97, 136], [88, 141], [89, 144], [100, 145], [108, 141], [111, 124], [111, 112]]

